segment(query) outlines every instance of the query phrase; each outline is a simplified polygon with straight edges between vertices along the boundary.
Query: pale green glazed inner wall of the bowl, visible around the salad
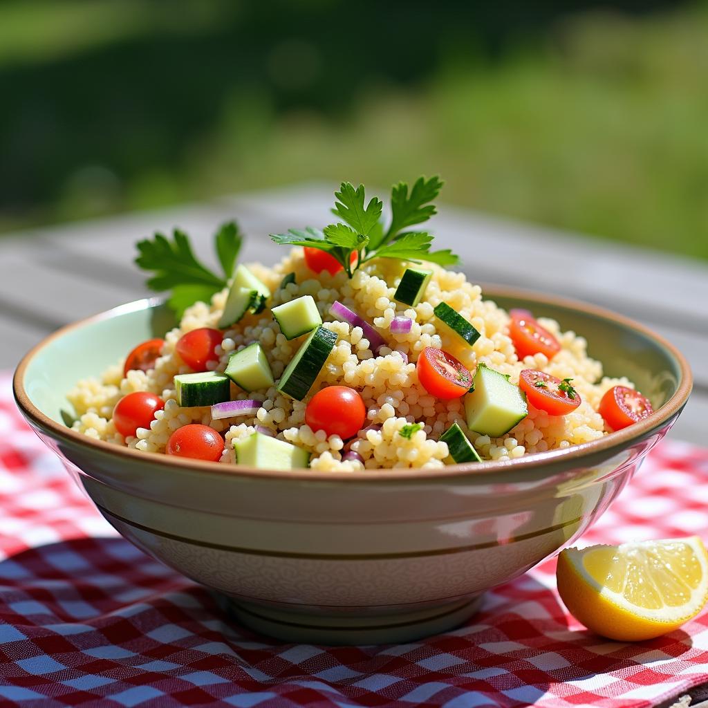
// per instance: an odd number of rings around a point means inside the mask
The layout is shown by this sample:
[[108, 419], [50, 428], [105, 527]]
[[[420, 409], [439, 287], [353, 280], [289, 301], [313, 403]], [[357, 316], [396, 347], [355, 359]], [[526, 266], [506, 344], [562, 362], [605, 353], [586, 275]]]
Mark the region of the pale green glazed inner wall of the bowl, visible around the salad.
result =
[[[494, 287], [483, 292], [501, 307], [530, 309], [585, 337], [590, 356], [603, 362], [605, 374], [627, 376], [655, 409], [676, 392], [680, 365], [671, 350], [624, 319], [529, 293]], [[74, 415], [66, 394], [79, 379], [100, 375], [137, 343], [163, 336], [173, 326], [170, 310], [158, 299], [123, 305], [70, 326], [50, 337], [30, 358], [23, 380], [25, 392], [45, 416], [66, 423]]]

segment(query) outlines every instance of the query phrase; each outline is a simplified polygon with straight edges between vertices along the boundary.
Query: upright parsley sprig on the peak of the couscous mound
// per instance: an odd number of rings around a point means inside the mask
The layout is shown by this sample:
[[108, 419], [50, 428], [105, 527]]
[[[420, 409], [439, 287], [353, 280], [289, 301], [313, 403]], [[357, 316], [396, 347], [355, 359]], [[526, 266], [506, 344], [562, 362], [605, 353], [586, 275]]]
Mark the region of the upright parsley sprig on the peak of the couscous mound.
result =
[[[430, 251], [433, 236], [428, 232], [408, 231], [435, 215], [431, 202], [440, 193], [442, 181], [437, 176], [419, 177], [409, 185], [399, 182], [391, 192], [391, 223], [384, 229], [381, 216], [383, 204], [374, 197], [368, 203], [364, 185], [355, 188], [343, 182], [337, 192], [332, 210], [342, 219], [324, 229], [307, 227], [290, 229], [287, 234], [270, 234], [276, 244], [305, 246], [329, 253], [341, 263], [351, 278], [354, 271], [372, 258], [399, 258], [401, 261], [421, 263], [421, 258], [438, 265], [457, 265], [459, 258], [450, 249]], [[352, 253], [357, 254], [352, 265]]]

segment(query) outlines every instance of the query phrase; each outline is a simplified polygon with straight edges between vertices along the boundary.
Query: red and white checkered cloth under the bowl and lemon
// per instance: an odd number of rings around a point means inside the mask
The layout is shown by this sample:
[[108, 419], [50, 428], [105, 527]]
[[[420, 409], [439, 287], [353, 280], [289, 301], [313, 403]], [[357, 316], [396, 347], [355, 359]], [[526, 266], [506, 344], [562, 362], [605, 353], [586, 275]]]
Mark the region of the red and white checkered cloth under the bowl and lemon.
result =
[[[665, 441], [583, 542], [708, 535], [708, 450]], [[643, 644], [582, 629], [554, 562], [402, 646], [278, 644], [130, 544], [25, 426], [0, 378], [0, 706], [646, 707], [708, 681], [708, 616]]]

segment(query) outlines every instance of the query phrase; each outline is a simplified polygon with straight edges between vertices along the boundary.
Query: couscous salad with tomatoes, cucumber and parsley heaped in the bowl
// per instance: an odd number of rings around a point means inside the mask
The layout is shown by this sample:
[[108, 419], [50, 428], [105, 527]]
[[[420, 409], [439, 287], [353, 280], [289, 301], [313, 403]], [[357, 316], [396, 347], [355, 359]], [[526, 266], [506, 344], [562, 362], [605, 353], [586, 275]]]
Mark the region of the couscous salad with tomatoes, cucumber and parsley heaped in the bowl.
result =
[[241, 236], [224, 224], [223, 277], [182, 232], [141, 241], [137, 263], [171, 291], [180, 324], [79, 382], [74, 430], [142, 452], [327, 472], [513, 459], [649, 415], [582, 336], [497, 307], [454, 270], [454, 253], [431, 250], [414, 229], [441, 185], [395, 185], [384, 224], [382, 202], [343, 183], [336, 223], [271, 236], [288, 247], [272, 267], [236, 265]]

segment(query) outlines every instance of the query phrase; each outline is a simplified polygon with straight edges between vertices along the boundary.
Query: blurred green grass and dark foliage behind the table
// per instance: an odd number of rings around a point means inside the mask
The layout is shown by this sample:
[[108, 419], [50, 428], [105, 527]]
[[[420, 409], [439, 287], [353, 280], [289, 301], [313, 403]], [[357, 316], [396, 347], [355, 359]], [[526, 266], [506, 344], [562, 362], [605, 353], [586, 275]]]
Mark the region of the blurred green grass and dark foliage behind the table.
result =
[[307, 180], [708, 258], [708, 3], [0, 1], [0, 231]]

